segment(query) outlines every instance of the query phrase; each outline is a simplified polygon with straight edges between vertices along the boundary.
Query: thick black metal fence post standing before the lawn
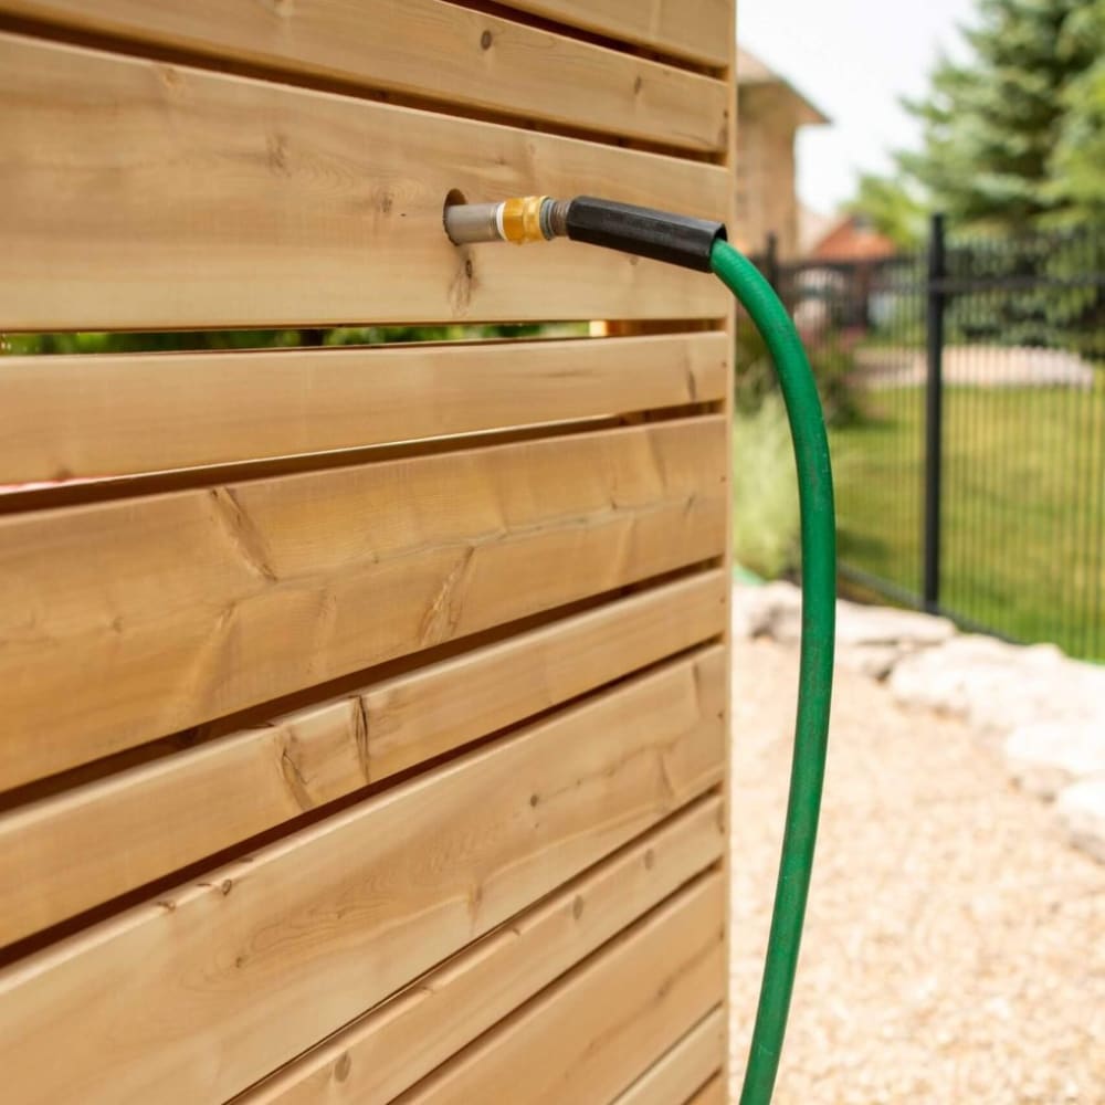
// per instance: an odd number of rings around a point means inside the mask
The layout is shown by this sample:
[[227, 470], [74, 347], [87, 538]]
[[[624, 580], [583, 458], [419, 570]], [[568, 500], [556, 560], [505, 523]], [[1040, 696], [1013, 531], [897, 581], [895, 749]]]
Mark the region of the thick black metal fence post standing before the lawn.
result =
[[922, 599], [924, 608], [936, 612], [940, 606], [940, 483], [944, 475], [944, 309], [947, 304], [945, 277], [945, 224], [934, 214], [928, 242], [926, 334], [928, 372], [925, 389], [925, 520], [923, 534]]

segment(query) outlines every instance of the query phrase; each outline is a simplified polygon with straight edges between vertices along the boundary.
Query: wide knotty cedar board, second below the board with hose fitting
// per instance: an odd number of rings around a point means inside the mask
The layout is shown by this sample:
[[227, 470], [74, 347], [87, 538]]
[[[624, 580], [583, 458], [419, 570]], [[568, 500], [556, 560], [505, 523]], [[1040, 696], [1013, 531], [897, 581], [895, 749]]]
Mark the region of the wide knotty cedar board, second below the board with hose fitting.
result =
[[720, 417], [0, 518], [0, 788], [720, 555]]

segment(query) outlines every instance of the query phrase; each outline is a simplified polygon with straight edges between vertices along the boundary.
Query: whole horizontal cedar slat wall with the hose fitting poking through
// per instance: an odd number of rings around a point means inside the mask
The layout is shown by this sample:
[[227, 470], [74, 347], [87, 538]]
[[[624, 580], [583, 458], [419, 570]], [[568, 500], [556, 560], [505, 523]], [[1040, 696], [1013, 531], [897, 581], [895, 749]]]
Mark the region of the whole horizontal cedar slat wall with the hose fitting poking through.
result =
[[6, 1102], [725, 1099], [730, 306], [441, 211], [726, 218], [733, 54], [0, 0], [0, 332], [621, 335], [0, 359]]

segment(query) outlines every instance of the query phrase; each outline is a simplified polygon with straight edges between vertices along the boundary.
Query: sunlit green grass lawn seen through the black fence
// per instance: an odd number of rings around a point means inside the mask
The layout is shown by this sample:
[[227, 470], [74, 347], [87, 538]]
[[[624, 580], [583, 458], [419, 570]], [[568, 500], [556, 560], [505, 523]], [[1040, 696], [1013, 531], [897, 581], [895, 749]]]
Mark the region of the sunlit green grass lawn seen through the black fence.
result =
[[[945, 390], [945, 608], [1105, 660], [1105, 381]], [[832, 433], [841, 560], [917, 593], [924, 392], [865, 392]]]

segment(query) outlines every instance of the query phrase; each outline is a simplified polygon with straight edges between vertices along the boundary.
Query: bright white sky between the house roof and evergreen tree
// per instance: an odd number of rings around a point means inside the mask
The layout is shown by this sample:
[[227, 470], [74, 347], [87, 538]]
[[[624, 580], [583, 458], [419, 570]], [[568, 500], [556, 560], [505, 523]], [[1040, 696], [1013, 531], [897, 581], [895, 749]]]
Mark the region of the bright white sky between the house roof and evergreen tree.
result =
[[860, 170], [886, 171], [920, 129], [898, 105], [923, 96], [944, 50], [965, 56], [958, 25], [976, 0], [739, 0], [737, 38], [828, 115], [798, 139], [798, 193], [831, 213]]

